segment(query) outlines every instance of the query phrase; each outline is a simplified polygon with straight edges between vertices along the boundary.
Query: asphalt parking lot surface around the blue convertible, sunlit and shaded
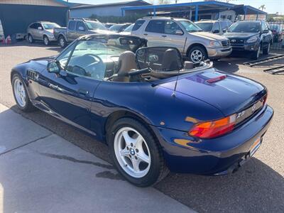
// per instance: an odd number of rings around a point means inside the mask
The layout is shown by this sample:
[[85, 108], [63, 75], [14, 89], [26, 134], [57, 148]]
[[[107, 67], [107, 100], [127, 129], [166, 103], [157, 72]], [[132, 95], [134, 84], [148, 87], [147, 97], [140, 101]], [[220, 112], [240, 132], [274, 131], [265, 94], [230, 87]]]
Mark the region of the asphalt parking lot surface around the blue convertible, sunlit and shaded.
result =
[[[41, 111], [26, 114], [16, 107], [10, 83], [11, 68], [32, 58], [57, 55], [60, 51], [58, 46], [45, 47], [39, 43], [0, 45], [0, 104], [111, 163], [104, 144]], [[263, 67], [243, 65], [248, 60], [224, 58], [214, 62], [214, 67], [249, 77], [268, 87], [268, 104], [275, 110], [275, 116], [254, 158], [231, 175], [171, 173], [155, 185], [160, 192], [197, 212], [284, 212], [284, 75], [270, 75], [263, 72]], [[278, 64], [283, 62], [278, 61]], [[104, 178], [114, 179], [113, 175], [106, 173]]]

